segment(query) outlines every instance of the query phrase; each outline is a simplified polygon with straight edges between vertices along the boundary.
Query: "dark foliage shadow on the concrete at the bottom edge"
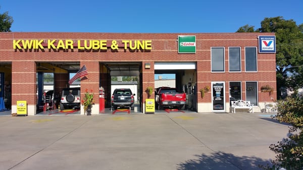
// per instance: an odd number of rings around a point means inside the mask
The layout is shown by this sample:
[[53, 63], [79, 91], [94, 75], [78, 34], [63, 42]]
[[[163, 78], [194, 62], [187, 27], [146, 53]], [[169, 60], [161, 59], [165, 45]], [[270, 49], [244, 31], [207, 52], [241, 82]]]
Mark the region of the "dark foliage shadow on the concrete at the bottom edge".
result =
[[269, 160], [259, 157], [237, 156], [231, 153], [216, 152], [211, 155], [195, 155], [196, 159], [189, 159], [183, 163], [177, 164], [178, 170], [197, 170], [197, 169], [249, 169], [260, 170], [259, 165], [270, 164]]

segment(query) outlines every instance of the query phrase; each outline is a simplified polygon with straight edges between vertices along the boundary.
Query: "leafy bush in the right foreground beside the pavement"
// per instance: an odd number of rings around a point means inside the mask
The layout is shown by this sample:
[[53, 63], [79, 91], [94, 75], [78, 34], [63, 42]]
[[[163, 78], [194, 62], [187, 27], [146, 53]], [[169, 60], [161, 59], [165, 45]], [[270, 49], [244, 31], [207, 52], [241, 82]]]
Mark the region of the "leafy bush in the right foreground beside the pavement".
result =
[[274, 118], [279, 122], [291, 125], [287, 138], [278, 144], [271, 144], [270, 149], [274, 151], [276, 159], [272, 160], [272, 165], [261, 165], [264, 169], [276, 170], [303, 169], [303, 98], [287, 97], [279, 100], [277, 104], [278, 113]]

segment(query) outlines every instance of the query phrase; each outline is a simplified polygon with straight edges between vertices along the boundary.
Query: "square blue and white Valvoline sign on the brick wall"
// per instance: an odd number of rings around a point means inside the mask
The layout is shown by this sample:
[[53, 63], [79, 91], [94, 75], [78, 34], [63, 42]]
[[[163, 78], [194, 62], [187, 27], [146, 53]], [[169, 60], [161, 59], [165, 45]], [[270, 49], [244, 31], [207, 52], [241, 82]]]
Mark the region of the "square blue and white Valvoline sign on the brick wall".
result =
[[260, 53], [276, 53], [276, 36], [259, 36]]

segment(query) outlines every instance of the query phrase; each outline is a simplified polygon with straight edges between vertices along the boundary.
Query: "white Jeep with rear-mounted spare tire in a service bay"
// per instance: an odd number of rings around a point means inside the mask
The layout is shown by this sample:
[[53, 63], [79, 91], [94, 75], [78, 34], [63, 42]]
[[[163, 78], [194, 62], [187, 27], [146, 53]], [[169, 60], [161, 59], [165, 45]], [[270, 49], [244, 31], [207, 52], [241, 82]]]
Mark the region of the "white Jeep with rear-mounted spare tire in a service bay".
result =
[[80, 108], [80, 87], [64, 88], [62, 90], [60, 110]]

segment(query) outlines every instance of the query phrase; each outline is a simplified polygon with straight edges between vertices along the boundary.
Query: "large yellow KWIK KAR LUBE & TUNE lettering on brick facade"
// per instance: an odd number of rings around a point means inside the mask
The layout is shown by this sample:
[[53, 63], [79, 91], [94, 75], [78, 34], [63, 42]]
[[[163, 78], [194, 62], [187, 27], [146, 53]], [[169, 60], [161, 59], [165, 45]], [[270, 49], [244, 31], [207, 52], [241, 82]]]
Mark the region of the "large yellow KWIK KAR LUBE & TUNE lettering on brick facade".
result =
[[14, 49], [151, 50], [151, 40], [14, 39]]

